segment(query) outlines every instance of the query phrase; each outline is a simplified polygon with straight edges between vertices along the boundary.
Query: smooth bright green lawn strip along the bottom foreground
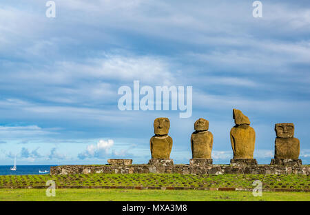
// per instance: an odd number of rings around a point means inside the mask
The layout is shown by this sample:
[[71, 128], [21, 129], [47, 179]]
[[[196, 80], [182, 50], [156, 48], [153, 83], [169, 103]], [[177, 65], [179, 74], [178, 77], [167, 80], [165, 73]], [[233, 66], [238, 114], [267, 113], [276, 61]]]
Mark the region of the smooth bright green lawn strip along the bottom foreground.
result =
[[251, 192], [206, 190], [105, 190], [56, 189], [48, 197], [44, 189], [1, 189], [0, 201], [310, 201], [304, 192]]

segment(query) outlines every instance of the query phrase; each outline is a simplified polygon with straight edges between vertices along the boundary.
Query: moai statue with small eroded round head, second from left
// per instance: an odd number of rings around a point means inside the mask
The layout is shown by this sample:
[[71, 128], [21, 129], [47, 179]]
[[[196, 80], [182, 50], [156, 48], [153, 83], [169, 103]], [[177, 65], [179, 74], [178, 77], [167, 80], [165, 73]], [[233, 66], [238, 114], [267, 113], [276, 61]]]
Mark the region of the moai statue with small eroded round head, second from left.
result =
[[209, 121], [198, 119], [194, 123], [195, 132], [191, 136], [191, 148], [193, 158], [190, 165], [212, 164], [211, 151], [213, 146], [213, 134], [209, 132]]

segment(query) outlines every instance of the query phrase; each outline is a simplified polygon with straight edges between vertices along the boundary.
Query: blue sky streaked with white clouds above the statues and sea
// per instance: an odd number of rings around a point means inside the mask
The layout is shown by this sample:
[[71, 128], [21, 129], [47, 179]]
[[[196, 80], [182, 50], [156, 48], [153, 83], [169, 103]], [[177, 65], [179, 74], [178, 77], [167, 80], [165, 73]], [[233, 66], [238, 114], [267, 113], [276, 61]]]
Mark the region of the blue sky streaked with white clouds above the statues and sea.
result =
[[[194, 122], [209, 120], [214, 163], [232, 158], [232, 109], [273, 158], [275, 123], [295, 124], [310, 161], [310, 2], [81, 1], [0, 3], [0, 165], [147, 163], [156, 117], [169, 117], [171, 158], [188, 163]], [[120, 111], [122, 85], [193, 87], [193, 114]]]

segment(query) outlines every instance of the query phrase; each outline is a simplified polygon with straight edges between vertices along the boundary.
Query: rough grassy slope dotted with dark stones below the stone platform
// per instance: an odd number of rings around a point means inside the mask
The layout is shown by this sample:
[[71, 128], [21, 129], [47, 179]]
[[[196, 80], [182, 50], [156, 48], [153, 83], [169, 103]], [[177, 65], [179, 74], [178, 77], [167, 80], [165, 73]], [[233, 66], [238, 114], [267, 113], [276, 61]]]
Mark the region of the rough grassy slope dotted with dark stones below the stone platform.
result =
[[0, 187], [45, 186], [53, 180], [56, 186], [143, 186], [143, 187], [238, 187], [253, 188], [255, 180], [262, 188], [309, 189], [309, 176], [304, 175], [183, 175], [183, 174], [75, 174], [75, 175], [25, 175], [0, 176]]

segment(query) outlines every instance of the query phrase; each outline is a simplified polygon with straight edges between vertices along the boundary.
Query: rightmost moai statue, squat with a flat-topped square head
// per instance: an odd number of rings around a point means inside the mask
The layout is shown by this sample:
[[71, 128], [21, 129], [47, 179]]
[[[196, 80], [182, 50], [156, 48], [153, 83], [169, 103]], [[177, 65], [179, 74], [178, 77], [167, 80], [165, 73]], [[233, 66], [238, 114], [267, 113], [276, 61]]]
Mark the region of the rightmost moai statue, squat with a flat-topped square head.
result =
[[300, 141], [294, 137], [294, 124], [277, 123], [275, 130], [277, 137], [271, 165], [302, 165], [302, 161], [298, 159]]

